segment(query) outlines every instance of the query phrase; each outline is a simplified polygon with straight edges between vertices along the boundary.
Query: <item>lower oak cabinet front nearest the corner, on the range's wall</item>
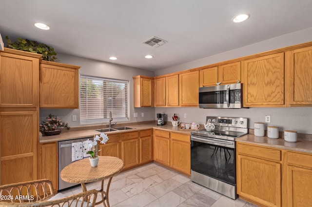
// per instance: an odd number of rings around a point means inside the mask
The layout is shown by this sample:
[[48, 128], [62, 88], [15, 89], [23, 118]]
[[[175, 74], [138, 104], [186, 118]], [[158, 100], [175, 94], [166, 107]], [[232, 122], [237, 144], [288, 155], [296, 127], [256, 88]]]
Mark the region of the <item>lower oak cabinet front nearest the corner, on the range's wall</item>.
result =
[[170, 166], [170, 132], [154, 130], [154, 160]]

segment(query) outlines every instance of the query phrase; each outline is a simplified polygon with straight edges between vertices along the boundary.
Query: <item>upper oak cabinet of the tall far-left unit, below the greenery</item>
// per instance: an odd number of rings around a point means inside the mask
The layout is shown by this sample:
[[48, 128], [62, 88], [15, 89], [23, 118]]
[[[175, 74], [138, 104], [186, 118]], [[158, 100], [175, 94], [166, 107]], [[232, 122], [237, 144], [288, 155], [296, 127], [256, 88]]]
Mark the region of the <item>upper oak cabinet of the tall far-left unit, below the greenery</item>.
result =
[[0, 107], [37, 107], [41, 55], [4, 48], [0, 51]]

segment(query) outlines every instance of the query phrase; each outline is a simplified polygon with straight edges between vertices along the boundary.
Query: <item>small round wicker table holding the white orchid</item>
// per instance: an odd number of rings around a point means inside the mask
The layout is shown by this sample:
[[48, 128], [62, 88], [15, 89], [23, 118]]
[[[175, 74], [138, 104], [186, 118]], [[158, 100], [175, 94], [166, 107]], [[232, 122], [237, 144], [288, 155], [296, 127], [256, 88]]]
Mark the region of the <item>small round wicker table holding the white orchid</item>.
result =
[[[64, 167], [60, 172], [60, 177], [63, 181], [68, 183], [80, 183], [83, 192], [87, 191], [86, 183], [91, 183], [101, 180], [101, 189], [98, 193], [101, 193], [102, 200], [96, 203], [96, 205], [103, 203], [103, 206], [110, 207], [108, 201], [108, 191], [112, 178], [115, 174], [123, 169], [123, 162], [117, 157], [100, 156], [98, 166], [92, 167], [90, 165], [89, 158], [78, 160], [74, 163]], [[103, 191], [104, 179], [109, 178], [106, 191]]]

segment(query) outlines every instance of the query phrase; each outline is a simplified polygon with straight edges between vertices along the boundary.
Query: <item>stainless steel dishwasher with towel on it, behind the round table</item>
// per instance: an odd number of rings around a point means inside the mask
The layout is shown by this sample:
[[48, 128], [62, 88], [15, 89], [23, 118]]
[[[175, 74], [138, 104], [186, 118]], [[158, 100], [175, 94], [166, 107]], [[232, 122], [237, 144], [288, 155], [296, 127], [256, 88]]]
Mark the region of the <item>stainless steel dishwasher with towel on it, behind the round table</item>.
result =
[[[74, 140], [59, 142], [59, 174], [64, 167], [66, 167], [72, 163], [72, 144], [84, 142], [87, 139], [93, 140], [93, 137], [86, 137], [86, 138], [81, 138], [81, 139], [74, 139]], [[97, 147], [98, 147], [98, 145], [97, 145]], [[80, 184], [79, 183], [77, 183], [77, 184], [67, 183], [67, 182], [63, 181], [59, 175], [59, 191], [65, 190], [65, 189], [70, 188], [70, 187], [78, 186], [78, 185], [80, 185]]]

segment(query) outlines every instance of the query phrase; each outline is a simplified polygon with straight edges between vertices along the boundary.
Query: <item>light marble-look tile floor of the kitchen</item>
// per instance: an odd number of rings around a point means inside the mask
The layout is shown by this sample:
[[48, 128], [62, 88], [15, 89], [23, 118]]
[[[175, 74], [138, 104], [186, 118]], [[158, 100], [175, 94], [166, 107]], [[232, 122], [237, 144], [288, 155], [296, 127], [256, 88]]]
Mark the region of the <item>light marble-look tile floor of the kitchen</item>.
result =
[[[91, 183], [87, 189], [99, 189], [99, 186], [99, 182]], [[72, 195], [81, 191], [81, 186], [77, 186], [62, 193]], [[189, 177], [156, 163], [114, 176], [109, 202], [111, 207], [256, 207], [197, 185]]]

